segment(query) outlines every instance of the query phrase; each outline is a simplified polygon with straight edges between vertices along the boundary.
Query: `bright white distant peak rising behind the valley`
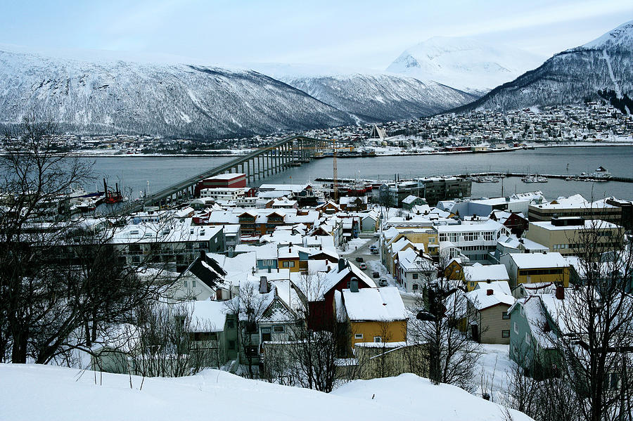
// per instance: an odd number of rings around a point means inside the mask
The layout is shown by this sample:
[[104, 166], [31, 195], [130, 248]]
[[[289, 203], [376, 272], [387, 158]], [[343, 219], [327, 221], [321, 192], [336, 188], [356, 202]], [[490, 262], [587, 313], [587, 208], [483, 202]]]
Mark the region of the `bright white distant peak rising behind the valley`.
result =
[[433, 37], [405, 50], [387, 71], [481, 95], [534, 69], [543, 60], [528, 51], [475, 39]]

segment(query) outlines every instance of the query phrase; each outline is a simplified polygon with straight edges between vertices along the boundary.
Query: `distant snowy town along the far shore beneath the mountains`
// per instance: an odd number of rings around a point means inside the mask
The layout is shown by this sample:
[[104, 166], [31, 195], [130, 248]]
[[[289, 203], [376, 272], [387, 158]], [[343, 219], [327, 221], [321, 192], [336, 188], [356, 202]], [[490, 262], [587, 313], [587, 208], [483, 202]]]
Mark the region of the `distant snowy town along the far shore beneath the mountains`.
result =
[[[229, 139], [183, 139], [137, 134], [58, 134], [56, 150], [82, 155], [234, 155], [295, 132]], [[341, 157], [513, 150], [533, 145], [629, 144], [633, 117], [604, 101], [506, 112], [478, 110], [405, 121], [313, 129], [314, 138], [349, 145]], [[17, 139], [4, 139], [4, 147]], [[0, 147], [0, 152], [2, 151]]]

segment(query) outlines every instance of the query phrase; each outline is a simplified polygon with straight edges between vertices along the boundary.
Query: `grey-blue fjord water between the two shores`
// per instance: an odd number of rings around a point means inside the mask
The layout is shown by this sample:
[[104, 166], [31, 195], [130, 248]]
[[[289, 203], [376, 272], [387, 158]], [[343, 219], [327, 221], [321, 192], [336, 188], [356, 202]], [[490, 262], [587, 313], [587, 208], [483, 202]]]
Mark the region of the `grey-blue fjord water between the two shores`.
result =
[[[199, 174], [232, 157], [99, 157], [94, 159], [94, 176], [99, 181], [122, 183], [138, 197], [147, 187], [150, 192], [170, 186], [186, 177]], [[307, 183], [318, 177], [331, 178], [332, 160], [314, 160], [301, 167], [292, 167], [256, 184]], [[537, 148], [504, 153], [465, 153], [454, 155], [411, 155], [389, 157], [346, 158], [338, 160], [340, 179], [393, 180], [416, 176], [442, 176], [469, 174], [484, 171], [529, 172], [532, 174], [591, 173], [605, 167], [613, 176], [633, 177], [633, 146]], [[101, 186], [98, 183], [98, 186]], [[89, 186], [90, 187], [90, 186]], [[613, 195], [622, 199], [633, 198], [633, 183], [608, 181], [592, 183], [549, 179], [548, 183], [525, 184], [518, 178], [504, 179], [503, 194], [542, 190], [553, 199], [560, 195], [581, 193], [588, 199]], [[501, 183], [473, 183], [473, 197], [501, 195]]]

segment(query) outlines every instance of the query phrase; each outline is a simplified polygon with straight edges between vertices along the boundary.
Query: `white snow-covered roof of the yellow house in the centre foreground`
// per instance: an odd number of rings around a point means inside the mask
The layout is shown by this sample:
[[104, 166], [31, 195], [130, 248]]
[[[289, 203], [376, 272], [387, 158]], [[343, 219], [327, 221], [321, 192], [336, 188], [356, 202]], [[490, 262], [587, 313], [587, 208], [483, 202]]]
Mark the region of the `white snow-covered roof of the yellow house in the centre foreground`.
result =
[[343, 290], [343, 304], [352, 321], [406, 320], [407, 310], [396, 287]]

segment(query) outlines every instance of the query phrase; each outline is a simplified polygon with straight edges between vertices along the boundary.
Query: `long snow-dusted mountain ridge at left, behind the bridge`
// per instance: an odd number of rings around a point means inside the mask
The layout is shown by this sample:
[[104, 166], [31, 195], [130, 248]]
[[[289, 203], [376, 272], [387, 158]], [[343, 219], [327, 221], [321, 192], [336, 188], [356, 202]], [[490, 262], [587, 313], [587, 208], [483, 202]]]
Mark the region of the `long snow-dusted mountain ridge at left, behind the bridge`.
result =
[[249, 70], [0, 51], [0, 124], [26, 112], [79, 133], [190, 138], [352, 124], [347, 112]]

